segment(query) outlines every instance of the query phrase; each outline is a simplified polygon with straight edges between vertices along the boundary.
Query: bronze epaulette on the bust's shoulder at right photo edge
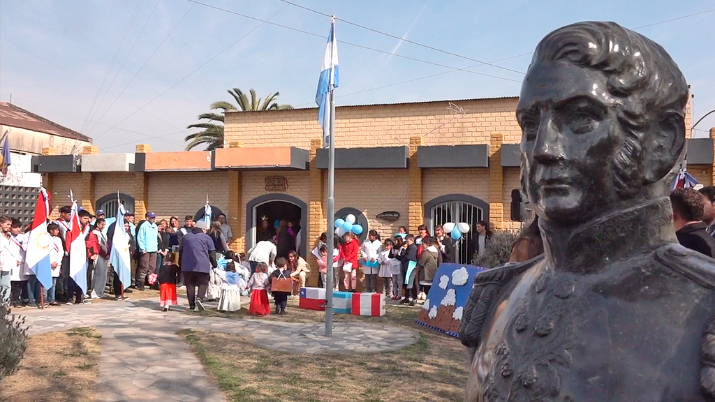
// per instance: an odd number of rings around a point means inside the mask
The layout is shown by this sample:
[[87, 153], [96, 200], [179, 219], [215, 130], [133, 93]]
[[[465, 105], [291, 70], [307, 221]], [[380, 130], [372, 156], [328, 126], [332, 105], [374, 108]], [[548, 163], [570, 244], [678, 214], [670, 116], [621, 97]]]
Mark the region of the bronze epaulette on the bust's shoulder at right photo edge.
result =
[[715, 290], [715, 259], [675, 243], [660, 247], [655, 258], [666, 268]]

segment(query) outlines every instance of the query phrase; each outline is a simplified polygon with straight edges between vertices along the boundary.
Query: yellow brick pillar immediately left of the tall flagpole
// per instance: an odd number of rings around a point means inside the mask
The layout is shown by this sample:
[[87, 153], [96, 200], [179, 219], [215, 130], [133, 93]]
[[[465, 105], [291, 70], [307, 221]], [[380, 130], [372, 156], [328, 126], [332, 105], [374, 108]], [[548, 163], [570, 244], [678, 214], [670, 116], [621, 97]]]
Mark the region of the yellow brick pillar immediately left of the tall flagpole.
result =
[[[308, 202], [308, 222], [303, 222], [307, 225], [308, 232], [306, 238], [307, 263], [312, 268], [310, 270], [309, 283], [317, 286], [317, 278], [320, 276], [320, 271], [317, 270], [317, 260], [310, 253], [315, 239], [320, 237], [322, 232], [325, 232], [327, 224], [327, 216], [325, 215], [322, 202], [324, 200], [323, 175], [324, 172], [317, 168], [317, 150], [322, 148], [322, 139], [313, 138], [310, 140], [310, 200]], [[330, 239], [330, 236], [328, 236]]]

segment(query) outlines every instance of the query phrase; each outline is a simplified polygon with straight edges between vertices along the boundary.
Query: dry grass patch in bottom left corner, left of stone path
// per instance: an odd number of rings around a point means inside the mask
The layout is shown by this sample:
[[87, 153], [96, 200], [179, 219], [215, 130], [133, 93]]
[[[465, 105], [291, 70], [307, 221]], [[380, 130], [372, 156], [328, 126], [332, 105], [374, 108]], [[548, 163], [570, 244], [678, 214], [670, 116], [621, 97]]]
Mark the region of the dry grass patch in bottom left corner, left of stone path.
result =
[[0, 401], [94, 401], [99, 338], [93, 328], [31, 336], [19, 371], [0, 382]]

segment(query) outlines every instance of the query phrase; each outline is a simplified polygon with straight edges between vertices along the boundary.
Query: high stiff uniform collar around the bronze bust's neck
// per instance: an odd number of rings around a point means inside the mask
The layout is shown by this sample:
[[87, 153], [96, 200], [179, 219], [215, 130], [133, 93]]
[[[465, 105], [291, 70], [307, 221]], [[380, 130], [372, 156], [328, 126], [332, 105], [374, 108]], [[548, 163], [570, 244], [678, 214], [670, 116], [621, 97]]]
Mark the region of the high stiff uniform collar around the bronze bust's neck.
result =
[[618, 260], [677, 243], [670, 200], [661, 197], [576, 227], [539, 220], [546, 264], [555, 270], [597, 273]]

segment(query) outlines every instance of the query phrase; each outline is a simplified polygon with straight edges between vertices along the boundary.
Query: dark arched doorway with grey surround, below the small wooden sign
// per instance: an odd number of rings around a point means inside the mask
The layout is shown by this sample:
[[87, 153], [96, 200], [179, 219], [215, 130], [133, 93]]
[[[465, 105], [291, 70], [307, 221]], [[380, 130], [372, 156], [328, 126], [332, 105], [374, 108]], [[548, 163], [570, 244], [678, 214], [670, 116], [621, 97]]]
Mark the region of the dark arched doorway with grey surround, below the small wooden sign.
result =
[[[267, 240], [275, 235], [275, 222], [285, 220], [291, 222], [292, 232], [297, 234], [297, 252], [305, 256], [307, 248], [307, 207], [296, 197], [285, 194], [267, 194], [257, 197], [246, 205], [246, 250], [250, 250], [257, 242]], [[262, 226], [262, 220], [267, 221], [267, 228]], [[280, 247], [279, 247], [280, 248]], [[294, 247], [290, 247], [295, 248]]]

